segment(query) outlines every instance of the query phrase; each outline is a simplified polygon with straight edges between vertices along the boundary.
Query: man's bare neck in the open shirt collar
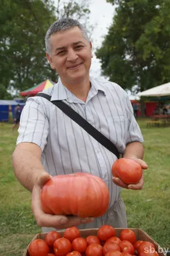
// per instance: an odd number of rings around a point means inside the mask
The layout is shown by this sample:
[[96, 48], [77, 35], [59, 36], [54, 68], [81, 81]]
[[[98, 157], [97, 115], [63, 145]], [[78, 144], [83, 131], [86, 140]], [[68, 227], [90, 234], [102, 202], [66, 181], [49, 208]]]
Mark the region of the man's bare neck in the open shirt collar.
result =
[[88, 92], [91, 87], [91, 84], [89, 82], [89, 76], [85, 77], [85, 79], [81, 81], [81, 83], [77, 83], [77, 84], [63, 83], [63, 84], [70, 92], [72, 92], [75, 95], [75, 97], [86, 102], [86, 99], [88, 97]]

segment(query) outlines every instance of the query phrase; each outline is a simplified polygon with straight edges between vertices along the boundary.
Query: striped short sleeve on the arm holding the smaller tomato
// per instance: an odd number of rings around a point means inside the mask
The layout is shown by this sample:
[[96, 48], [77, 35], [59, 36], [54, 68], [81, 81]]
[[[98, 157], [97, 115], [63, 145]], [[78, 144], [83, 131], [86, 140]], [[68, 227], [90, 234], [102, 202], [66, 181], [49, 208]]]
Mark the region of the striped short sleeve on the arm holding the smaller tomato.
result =
[[139, 125], [137, 124], [135, 117], [134, 117], [134, 111], [132, 108], [132, 104], [130, 102], [130, 99], [128, 98], [128, 95], [126, 96], [125, 100], [125, 109], [127, 112], [127, 118], [128, 118], [128, 133], [127, 133], [127, 141], [126, 143], [139, 141], [143, 142], [143, 135], [141, 133], [141, 129], [139, 128]]

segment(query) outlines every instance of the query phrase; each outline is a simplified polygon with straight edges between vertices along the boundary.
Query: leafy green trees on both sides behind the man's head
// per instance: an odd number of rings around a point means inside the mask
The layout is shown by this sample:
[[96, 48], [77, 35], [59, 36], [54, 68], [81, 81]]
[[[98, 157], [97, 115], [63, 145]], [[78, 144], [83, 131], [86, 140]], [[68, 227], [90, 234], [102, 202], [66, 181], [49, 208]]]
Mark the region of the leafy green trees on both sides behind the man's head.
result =
[[[112, 24], [96, 55], [102, 75], [136, 93], [170, 81], [170, 1], [107, 0]], [[87, 24], [88, 0], [0, 0], [0, 99], [58, 74], [45, 57], [45, 33], [61, 17]], [[107, 13], [104, 13], [107, 15]], [[89, 26], [89, 32], [92, 31]]]

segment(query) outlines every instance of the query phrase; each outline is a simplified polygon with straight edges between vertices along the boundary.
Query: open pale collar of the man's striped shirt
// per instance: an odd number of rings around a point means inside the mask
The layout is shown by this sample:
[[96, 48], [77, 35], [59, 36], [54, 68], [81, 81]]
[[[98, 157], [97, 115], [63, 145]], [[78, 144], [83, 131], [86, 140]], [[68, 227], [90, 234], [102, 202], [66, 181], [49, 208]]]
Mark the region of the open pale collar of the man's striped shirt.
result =
[[[96, 95], [98, 91], [104, 92], [105, 95], [105, 88], [103, 84], [99, 81], [95, 81], [93, 77], [90, 77], [90, 83], [91, 83], [91, 88], [90, 92]], [[62, 83], [61, 79], [58, 79], [58, 83], [54, 85], [54, 90], [52, 91], [52, 96], [51, 96], [51, 101], [52, 100], [67, 100], [68, 102], [72, 103], [80, 103], [82, 100], [77, 99], [75, 95], [73, 95], [72, 92], [70, 92]]]

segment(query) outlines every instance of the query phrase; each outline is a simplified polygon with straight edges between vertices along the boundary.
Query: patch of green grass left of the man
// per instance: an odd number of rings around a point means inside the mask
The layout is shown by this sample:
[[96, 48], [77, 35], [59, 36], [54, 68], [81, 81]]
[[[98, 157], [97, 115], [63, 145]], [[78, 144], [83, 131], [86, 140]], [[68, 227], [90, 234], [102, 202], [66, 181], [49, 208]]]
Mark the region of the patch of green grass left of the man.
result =
[[31, 193], [23, 188], [12, 169], [17, 131], [0, 124], [0, 255], [22, 255], [33, 236], [40, 232], [30, 209]]

